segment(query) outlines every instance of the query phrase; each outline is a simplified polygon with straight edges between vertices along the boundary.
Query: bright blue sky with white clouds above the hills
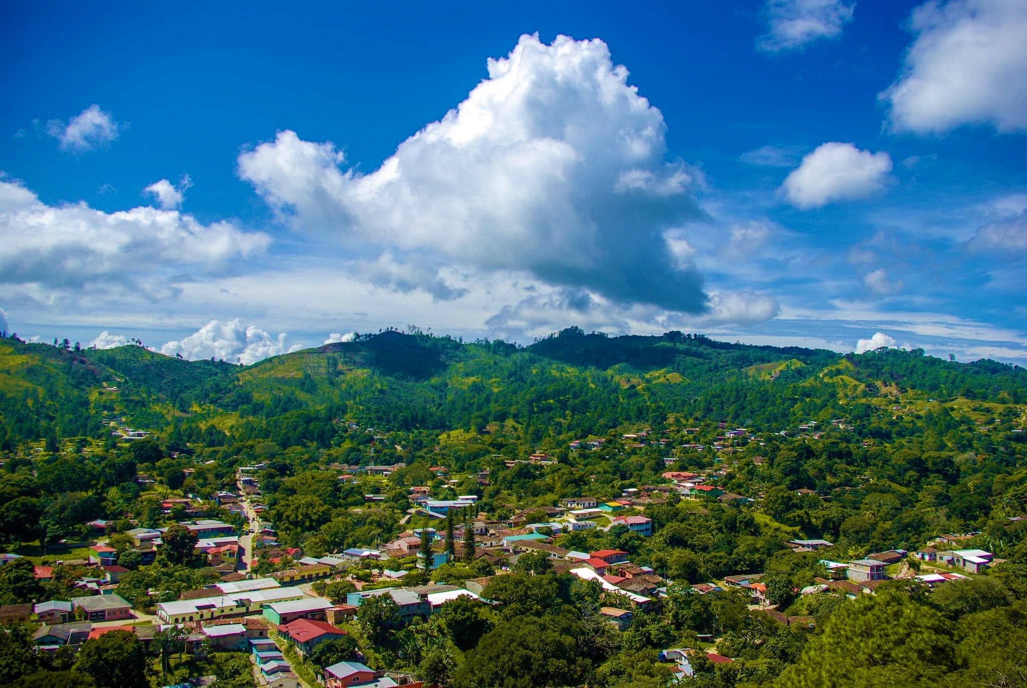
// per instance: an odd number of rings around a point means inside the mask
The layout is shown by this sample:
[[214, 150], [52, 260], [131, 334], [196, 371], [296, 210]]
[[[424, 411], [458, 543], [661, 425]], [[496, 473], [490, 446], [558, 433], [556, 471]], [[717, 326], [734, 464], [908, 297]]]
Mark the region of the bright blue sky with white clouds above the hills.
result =
[[9, 331], [1027, 363], [1023, 2], [210, 4], [0, 8]]

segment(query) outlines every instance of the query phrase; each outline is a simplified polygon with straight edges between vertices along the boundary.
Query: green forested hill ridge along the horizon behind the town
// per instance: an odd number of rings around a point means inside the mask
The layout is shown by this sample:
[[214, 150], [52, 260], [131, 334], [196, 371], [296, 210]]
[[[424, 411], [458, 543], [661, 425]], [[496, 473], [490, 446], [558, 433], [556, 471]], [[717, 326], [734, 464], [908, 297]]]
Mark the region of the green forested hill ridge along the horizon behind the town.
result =
[[142, 427], [205, 427], [223, 415], [220, 430], [290, 413], [307, 428], [341, 417], [395, 430], [512, 421], [537, 441], [670, 417], [786, 426], [865, 417], [860, 405], [901, 399], [1016, 405], [1027, 402], [1027, 370], [920, 351], [842, 357], [680, 332], [608, 337], [578, 328], [523, 348], [386, 331], [251, 366], [185, 361], [138, 346], [76, 352], [8, 339], [0, 345], [0, 395], [2, 434], [14, 441], [50, 428], [83, 434], [89, 408], [127, 414]]

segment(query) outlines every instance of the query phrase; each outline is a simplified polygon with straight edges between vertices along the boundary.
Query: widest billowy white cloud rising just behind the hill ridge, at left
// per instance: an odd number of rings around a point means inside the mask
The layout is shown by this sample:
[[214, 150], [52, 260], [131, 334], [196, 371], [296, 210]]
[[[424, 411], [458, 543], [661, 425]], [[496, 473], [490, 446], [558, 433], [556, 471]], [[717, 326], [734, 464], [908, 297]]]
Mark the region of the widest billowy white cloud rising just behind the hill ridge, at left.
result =
[[160, 353], [166, 356], [181, 354], [190, 360], [212, 357], [229, 362], [238, 360], [249, 365], [303, 348], [302, 345], [287, 347], [286, 336], [281, 332], [272, 337], [259, 327], [243, 324], [240, 318], [224, 323], [212, 320], [181, 341], [168, 341], [160, 348]]

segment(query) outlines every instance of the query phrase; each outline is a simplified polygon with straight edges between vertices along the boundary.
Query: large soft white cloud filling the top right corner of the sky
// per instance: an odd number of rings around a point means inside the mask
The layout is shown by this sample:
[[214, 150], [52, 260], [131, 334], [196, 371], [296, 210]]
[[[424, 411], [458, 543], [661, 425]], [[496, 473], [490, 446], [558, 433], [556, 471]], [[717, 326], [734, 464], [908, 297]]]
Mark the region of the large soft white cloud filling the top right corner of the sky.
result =
[[1027, 3], [926, 2], [913, 11], [910, 28], [916, 39], [903, 71], [880, 95], [893, 130], [1027, 130]]

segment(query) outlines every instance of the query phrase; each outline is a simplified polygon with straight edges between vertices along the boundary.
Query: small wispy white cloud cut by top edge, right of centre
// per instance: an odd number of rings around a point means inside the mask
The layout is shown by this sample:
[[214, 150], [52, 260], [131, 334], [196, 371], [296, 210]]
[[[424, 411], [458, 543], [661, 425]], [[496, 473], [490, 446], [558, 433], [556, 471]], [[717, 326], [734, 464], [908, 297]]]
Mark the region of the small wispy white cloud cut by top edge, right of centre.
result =
[[854, 2], [842, 0], [767, 0], [770, 27], [756, 46], [777, 52], [804, 47], [820, 38], [837, 38], [854, 10]]

